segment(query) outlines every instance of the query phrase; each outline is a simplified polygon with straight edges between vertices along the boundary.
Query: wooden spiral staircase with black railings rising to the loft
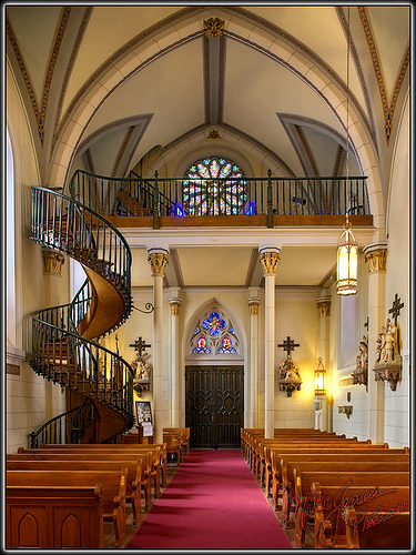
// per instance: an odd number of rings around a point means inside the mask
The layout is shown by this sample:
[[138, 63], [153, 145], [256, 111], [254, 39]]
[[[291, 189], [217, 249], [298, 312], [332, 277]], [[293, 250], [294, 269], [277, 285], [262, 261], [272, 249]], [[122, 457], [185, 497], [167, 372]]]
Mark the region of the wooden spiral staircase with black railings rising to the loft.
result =
[[100, 337], [132, 310], [131, 253], [122, 234], [59, 189], [32, 188], [30, 239], [80, 262], [88, 279], [71, 303], [32, 316], [32, 370], [90, 398], [83, 443], [115, 441], [134, 424], [133, 371]]

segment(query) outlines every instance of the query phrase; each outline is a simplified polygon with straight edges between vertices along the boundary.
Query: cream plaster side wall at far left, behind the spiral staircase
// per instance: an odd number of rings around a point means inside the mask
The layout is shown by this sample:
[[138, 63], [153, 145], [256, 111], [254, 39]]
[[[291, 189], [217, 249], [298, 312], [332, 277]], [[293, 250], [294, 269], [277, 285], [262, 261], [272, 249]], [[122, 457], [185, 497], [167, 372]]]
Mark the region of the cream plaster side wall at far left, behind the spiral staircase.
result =
[[[8, 70], [9, 71], [9, 70]], [[8, 74], [8, 81], [13, 79]], [[31, 186], [40, 184], [35, 153], [27, 125], [27, 117], [16, 89], [8, 88], [7, 125], [13, 151], [14, 219], [16, 219], [16, 304], [7, 306], [12, 314], [13, 333], [8, 340], [7, 362], [19, 367], [18, 374], [7, 373], [6, 380], [6, 451], [16, 453], [28, 447], [29, 434], [47, 420], [63, 412], [64, 395], [60, 387], [39, 377], [29, 366], [31, 356], [31, 314], [44, 307], [43, 265], [41, 248], [28, 238], [31, 221]], [[12, 117], [11, 117], [12, 114]], [[65, 272], [67, 269], [67, 272]], [[68, 300], [68, 265], [63, 266], [62, 295]], [[14, 354], [19, 353], [18, 360]]]

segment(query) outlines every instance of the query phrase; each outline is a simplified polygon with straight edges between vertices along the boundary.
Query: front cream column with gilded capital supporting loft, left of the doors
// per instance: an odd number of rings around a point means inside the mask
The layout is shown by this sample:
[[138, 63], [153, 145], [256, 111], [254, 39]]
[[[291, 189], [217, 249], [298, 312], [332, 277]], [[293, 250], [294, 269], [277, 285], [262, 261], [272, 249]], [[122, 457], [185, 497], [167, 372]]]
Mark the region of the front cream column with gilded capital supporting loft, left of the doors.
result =
[[153, 424], [154, 443], [163, 443], [163, 278], [168, 251], [148, 249], [153, 276]]

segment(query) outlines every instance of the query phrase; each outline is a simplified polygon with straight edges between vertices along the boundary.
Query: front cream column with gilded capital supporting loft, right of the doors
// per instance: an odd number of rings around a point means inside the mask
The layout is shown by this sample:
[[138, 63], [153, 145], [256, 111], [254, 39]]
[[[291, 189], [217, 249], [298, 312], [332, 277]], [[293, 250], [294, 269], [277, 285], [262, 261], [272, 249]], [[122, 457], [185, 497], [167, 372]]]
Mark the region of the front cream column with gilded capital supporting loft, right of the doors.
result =
[[274, 350], [275, 350], [275, 278], [281, 260], [280, 249], [265, 246], [260, 249], [260, 262], [263, 266], [265, 290], [264, 326], [264, 433], [274, 437]]

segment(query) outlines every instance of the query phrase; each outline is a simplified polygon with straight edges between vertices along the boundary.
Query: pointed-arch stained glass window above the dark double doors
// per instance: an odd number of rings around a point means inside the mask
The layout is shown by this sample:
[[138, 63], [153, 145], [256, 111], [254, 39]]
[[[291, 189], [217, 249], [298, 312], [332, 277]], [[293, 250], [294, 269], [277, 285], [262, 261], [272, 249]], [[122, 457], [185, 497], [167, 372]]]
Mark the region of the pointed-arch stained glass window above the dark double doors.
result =
[[239, 339], [229, 317], [212, 307], [197, 320], [191, 337], [192, 354], [239, 354]]

